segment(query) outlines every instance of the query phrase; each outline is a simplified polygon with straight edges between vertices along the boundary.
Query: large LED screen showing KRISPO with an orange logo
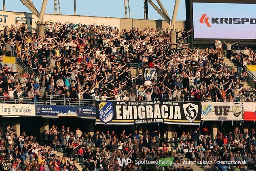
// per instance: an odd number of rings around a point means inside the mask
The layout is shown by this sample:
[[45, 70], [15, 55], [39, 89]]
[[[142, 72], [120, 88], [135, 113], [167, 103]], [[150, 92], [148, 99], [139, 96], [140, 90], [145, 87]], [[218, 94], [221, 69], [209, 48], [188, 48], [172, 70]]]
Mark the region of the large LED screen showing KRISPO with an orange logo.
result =
[[193, 2], [195, 39], [255, 39], [256, 4]]

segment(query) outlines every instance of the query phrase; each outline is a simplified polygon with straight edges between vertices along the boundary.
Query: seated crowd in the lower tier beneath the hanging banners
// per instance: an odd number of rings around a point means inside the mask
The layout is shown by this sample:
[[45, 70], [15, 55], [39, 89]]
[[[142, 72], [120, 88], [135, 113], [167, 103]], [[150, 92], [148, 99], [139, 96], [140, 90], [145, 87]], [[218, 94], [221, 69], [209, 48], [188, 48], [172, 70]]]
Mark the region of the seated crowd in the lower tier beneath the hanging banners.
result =
[[[70, 127], [52, 125], [42, 135], [42, 146], [25, 132], [17, 136], [11, 125], [6, 130], [0, 132], [1, 171], [76, 171], [79, 163], [83, 163], [83, 171], [193, 171], [191, 161], [205, 171], [256, 169], [254, 128], [220, 127], [216, 137], [209, 135], [207, 127], [184, 130], [181, 135], [172, 131], [172, 137], [165, 129], [152, 128], [107, 129], [91, 136], [79, 128], [72, 132]], [[55, 150], [63, 156], [57, 156]], [[172, 166], [146, 163], [169, 157], [174, 158]], [[118, 158], [130, 158], [131, 162], [120, 166]]]

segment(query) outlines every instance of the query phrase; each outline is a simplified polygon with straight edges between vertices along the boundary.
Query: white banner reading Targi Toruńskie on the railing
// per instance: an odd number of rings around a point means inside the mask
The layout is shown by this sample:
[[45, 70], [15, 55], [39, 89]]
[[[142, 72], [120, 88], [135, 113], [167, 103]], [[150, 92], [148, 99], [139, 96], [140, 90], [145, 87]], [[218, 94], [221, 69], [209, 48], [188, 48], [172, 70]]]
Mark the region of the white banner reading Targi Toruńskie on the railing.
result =
[[0, 115], [36, 116], [36, 105], [29, 104], [0, 104]]

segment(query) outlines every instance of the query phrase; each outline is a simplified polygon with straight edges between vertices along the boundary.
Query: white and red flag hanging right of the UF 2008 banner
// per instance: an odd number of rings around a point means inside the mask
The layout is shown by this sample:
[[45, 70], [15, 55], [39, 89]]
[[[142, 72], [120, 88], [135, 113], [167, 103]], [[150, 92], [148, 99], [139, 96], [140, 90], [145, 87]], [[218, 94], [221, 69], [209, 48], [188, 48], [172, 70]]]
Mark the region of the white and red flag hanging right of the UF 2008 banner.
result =
[[243, 120], [256, 120], [256, 103], [243, 103]]

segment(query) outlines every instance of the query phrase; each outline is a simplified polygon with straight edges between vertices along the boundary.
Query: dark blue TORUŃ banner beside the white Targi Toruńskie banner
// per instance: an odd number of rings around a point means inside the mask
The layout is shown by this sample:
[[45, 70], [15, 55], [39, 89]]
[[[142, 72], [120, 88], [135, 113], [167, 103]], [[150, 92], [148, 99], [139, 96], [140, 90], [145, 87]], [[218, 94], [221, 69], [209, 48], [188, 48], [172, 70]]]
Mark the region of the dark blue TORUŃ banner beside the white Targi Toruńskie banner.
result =
[[36, 116], [84, 116], [95, 118], [93, 106], [36, 105]]

